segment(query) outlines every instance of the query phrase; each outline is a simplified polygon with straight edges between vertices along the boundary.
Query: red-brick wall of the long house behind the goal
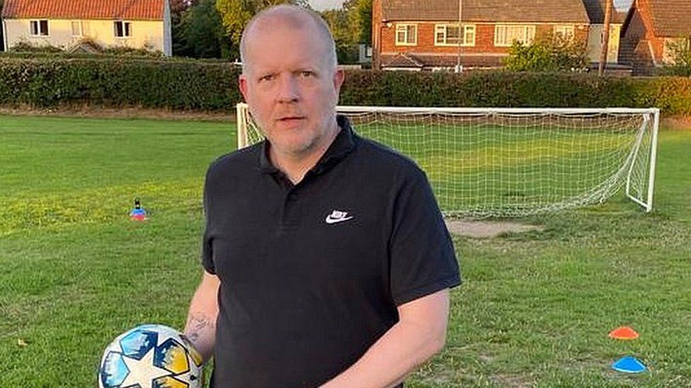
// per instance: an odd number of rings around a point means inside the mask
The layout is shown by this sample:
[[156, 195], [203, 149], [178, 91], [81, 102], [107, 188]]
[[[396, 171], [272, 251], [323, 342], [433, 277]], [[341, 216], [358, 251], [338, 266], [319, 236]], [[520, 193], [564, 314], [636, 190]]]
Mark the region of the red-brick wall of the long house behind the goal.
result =
[[[458, 46], [436, 46], [435, 45], [435, 24], [438, 23], [454, 23], [450, 21], [439, 22], [405, 22], [398, 21], [394, 23], [380, 24], [382, 36], [382, 53], [396, 54], [399, 52], [417, 53], [417, 54], [457, 54]], [[414, 46], [396, 45], [396, 24], [416, 24], [418, 26], [417, 44]], [[497, 47], [494, 45], [494, 23], [464, 23], [475, 25], [475, 45], [462, 46], [463, 54], [488, 54], [488, 55], [506, 55], [509, 47]], [[538, 37], [544, 34], [551, 34], [554, 31], [555, 25], [564, 25], [565, 23], [520, 23], [521, 25], [535, 25], [535, 36]], [[574, 33], [576, 39], [586, 41], [588, 35], [588, 28], [586, 25], [575, 25]], [[617, 40], [618, 43], [618, 40]]]

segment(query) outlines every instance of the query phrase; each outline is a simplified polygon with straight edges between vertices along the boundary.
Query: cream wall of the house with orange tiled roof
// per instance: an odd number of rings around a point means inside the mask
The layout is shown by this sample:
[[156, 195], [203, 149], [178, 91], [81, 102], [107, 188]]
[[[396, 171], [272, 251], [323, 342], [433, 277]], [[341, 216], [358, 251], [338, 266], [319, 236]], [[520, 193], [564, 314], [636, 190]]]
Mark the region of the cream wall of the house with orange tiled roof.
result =
[[72, 21], [48, 20], [48, 36], [30, 35], [30, 20], [37, 19], [5, 19], [8, 47], [18, 42], [28, 42], [32, 45], [52, 45], [67, 48], [78, 42], [82, 37], [91, 37], [103, 46], [118, 47], [147, 47], [154, 51], [164, 52], [164, 22], [149, 20], [130, 21], [131, 37], [115, 37], [113, 22], [115, 20], [82, 20], [82, 35], [72, 36]]

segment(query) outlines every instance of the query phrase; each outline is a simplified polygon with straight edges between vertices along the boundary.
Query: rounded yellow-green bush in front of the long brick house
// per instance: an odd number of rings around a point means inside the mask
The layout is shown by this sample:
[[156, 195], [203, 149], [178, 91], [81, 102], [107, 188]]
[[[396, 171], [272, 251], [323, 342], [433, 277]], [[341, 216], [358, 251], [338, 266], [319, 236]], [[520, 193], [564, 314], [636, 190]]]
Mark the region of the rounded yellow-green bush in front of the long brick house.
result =
[[504, 61], [512, 71], [583, 71], [588, 64], [586, 45], [573, 37], [545, 35], [532, 45], [514, 41]]

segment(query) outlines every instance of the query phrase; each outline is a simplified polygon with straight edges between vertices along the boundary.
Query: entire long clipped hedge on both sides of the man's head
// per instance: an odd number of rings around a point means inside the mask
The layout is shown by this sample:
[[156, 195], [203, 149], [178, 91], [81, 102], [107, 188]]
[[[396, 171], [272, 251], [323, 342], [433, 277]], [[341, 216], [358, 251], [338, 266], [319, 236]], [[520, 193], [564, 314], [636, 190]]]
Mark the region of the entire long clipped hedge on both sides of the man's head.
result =
[[[0, 57], [0, 105], [232, 112], [239, 68], [218, 61]], [[342, 105], [660, 107], [691, 115], [691, 78], [487, 71], [348, 71]]]

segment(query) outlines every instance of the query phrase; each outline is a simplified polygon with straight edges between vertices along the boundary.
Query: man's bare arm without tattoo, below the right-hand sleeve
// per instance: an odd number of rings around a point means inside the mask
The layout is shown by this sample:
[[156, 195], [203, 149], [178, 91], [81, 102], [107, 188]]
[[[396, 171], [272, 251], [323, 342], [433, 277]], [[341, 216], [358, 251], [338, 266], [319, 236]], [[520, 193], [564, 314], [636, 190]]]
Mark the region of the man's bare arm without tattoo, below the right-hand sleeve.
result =
[[393, 387], [438, 353], [446, 341], [448, 288], [398, 307], [399, 322], [348, 370], [322, 388]]

